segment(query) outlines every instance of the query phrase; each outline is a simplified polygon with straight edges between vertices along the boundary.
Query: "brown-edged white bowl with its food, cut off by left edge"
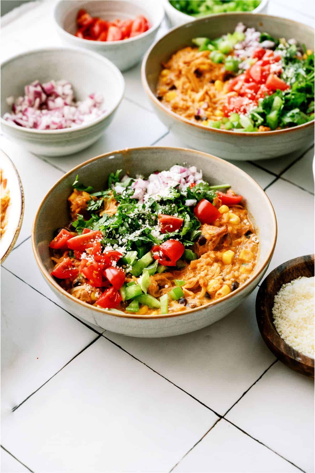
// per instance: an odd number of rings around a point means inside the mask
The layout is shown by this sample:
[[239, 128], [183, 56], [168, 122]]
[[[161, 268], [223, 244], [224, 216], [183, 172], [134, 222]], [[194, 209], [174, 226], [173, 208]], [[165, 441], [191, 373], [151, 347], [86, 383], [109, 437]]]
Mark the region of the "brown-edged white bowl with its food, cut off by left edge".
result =
[[20, 233], [24, 214], [24, 193], [20, 176], [11, 159], [2, 149], [0, 149], [0, 156], [0, 260], [2, 264], [12, 251]]

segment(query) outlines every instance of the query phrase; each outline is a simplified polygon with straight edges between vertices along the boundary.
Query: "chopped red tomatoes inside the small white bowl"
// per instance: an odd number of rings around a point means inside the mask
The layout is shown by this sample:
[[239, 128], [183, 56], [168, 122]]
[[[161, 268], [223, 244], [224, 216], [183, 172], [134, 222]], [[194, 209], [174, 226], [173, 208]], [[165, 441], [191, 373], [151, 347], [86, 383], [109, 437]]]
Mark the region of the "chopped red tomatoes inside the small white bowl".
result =
[[120, 41], [145, 33], [150, 28], [148, 20], [138, 15], [135, 19], [105, 21], [91, 17], [86, 10], [77, 12], [76, 36], [91, 41]]

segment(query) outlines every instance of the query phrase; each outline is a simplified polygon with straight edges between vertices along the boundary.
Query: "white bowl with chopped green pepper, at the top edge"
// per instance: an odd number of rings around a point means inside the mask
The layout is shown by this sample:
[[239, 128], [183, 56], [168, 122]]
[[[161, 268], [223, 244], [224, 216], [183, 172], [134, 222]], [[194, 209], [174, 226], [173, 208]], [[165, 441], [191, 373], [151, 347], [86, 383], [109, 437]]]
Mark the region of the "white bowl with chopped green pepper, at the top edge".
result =
[[179, 26], [197, 18], [246, 11], [258, 13], [264, 10], [267, 0], [163, 0], [171, 26]]

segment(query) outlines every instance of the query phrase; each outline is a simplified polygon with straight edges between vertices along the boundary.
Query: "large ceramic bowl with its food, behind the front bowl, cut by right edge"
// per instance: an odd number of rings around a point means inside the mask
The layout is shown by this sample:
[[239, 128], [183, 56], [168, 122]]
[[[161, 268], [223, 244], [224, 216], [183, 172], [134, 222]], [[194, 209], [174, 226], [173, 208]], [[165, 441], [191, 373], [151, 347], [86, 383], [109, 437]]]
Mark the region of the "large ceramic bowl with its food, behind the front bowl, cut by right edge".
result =
[[142, 83], [189, 147], [274, 158], [314, 141], [314, 29], [226, 13], [172, 29], [148, 51]]

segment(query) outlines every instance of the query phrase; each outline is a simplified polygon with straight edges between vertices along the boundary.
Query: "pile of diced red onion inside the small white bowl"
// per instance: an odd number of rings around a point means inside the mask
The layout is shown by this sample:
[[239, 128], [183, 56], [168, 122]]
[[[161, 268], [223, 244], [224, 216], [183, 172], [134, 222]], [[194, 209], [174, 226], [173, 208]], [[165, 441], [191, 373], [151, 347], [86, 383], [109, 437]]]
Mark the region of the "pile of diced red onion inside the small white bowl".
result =
[[102, 94], [91, 94], [76, 102], [72, 85], [65, 79], [45, 84], [35, 80], [25, 87], [24, 97], [8, 97], [7, 103], [12, 106], [12, 113], [4, 114], [5, 120], [36, 130], [85, 125], [104, 113]]

